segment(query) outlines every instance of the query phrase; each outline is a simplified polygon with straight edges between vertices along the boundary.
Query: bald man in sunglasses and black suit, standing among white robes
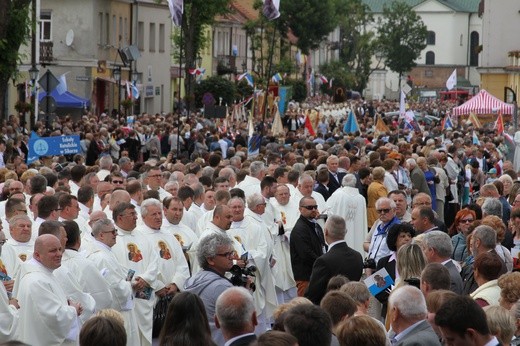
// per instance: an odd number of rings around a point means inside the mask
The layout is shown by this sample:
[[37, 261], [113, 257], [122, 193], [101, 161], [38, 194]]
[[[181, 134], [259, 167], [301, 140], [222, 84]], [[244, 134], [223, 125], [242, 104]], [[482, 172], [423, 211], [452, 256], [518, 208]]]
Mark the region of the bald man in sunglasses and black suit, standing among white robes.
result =
[[312, 197], [300, 200], [300, 218], [291, 232], [291, 266], [296, 280], [298, 296], [303, 297], [311, 278], [314, 261], [325, 252], [325, 236], [316, 219], [320, 215], [318, 204]]

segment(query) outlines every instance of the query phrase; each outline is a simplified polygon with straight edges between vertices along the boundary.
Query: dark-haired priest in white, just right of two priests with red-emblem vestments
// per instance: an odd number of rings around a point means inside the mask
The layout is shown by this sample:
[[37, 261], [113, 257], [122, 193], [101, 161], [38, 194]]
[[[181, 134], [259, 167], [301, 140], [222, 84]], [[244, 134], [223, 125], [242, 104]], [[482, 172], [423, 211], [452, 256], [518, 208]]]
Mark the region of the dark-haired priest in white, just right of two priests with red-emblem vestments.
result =
[[173, 234], [179, 241], [185, 253], [186, 260], [189, 261], [191, 273], [199, 271], [197, 261], [197, 244], [199, 237], [188, 226], [181, 222], [184, 213], [184, 206], [180, 199], [171, 197], [163, 201], [164, 220], [161, 229]]

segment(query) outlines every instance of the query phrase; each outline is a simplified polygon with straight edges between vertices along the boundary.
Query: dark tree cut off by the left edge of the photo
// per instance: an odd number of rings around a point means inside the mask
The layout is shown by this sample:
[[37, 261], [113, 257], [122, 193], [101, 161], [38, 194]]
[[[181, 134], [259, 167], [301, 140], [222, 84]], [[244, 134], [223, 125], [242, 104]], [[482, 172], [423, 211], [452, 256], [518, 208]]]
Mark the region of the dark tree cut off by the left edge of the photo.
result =
[[6, 118], [7, 88], [16, 74], [20, 46], [29, 37], [30, 4], [30, 0], [0, 1], [0, 119]]

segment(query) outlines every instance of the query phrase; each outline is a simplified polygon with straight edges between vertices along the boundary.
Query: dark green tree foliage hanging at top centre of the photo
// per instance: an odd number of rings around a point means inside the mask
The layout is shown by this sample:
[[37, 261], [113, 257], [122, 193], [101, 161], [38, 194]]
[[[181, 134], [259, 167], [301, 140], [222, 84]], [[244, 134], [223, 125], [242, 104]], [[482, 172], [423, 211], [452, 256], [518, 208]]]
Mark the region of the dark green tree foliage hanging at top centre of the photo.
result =
[[285, 36], [290, 30], [298, 37], [296, 45], [304, 54], [318, 48], [338, 24], [335, 0], [281, 1], [280, 14], [276, 20], [280, 32]]

